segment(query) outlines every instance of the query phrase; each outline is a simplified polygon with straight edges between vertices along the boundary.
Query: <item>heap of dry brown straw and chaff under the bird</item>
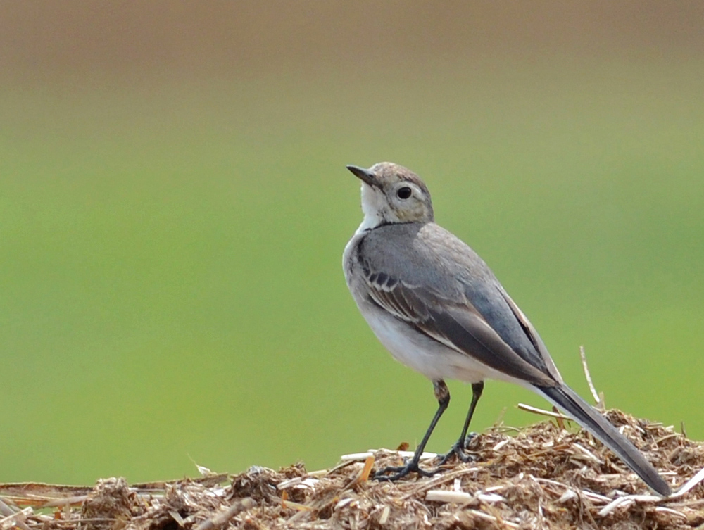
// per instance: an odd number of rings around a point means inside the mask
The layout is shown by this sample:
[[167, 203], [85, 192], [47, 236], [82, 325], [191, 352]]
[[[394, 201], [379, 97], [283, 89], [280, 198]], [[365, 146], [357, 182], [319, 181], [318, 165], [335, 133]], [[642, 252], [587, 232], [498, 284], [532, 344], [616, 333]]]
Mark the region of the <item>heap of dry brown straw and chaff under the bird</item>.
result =
[[704, 528], [704, 485], [691, 480], [704, 478], [704, 444], [619, 411], [608, 417], [686, 491], [651, 495], [601, 443], [557, 418], [494, 427], [472, 439], [474, 462], [394, 484], [367, 478], [372, 465], [401, 463], [404, 453], [391, 450], [347, 455], [318, 472], [294, 465], [234, 477], [201, 469], [201, 479], [132, 486], [0, 484], [0, 530]]

